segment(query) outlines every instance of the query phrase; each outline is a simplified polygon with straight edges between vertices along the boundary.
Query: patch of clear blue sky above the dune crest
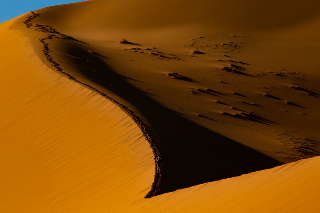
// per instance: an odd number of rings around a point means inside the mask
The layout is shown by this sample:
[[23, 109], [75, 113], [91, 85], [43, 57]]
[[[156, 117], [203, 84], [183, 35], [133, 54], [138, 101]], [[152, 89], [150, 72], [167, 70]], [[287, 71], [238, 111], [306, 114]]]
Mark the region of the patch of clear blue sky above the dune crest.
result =
[[43, 7], [84, 0], [0, 0], [0, 23]]

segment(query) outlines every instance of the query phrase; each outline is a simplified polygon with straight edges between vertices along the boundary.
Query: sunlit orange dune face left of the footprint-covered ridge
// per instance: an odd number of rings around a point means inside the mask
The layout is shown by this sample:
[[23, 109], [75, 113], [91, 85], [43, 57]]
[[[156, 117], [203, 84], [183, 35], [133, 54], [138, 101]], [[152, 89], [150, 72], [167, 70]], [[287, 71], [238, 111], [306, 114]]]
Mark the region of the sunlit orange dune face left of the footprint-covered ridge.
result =
[[116, 105], [46, 67], [1, 25], [0, 211], [114, 212], [143, 199], [153, 154]]

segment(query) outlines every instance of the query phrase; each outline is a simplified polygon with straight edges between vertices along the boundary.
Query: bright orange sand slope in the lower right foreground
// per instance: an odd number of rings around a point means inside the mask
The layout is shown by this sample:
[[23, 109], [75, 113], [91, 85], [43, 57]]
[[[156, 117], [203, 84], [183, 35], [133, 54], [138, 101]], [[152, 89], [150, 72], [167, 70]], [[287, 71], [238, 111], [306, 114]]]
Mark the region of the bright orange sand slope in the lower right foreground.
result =
[[320, 157], [147, 199], [133, 212], [318, 212]]

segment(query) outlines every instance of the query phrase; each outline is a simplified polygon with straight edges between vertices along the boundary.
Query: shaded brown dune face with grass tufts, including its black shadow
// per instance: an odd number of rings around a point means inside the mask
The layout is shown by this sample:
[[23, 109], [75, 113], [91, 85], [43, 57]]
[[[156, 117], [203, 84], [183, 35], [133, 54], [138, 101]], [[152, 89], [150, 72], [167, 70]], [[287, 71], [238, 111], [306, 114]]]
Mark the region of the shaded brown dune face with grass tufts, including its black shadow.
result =
[[13, 27], [128, 109], [164, 158], [156, 195], [320, 154], [320, 13], [307, 3], [92, 0]]

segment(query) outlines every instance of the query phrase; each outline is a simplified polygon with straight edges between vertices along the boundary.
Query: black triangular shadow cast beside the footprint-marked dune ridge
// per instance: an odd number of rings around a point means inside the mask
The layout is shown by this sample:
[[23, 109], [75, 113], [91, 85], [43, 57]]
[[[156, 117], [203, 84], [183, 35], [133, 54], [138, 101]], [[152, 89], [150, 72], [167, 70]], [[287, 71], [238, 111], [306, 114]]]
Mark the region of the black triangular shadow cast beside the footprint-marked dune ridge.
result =
[[157, 103], [114, 72], [102, 58], [93, 57], [82, 43], [60, 41], [66, 54], [74, 56], [70, 63], [78, 65], [64, 72], [94, 88], [104, 88], [101, 92], [142, 114], [140, 119], [150, 133], [154, 154], [161, 154], [163, 159], [163, 170], [155, 175], [147, 198], [282, 164]]

